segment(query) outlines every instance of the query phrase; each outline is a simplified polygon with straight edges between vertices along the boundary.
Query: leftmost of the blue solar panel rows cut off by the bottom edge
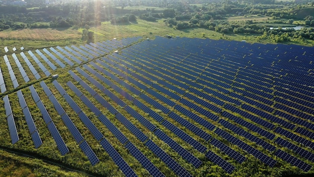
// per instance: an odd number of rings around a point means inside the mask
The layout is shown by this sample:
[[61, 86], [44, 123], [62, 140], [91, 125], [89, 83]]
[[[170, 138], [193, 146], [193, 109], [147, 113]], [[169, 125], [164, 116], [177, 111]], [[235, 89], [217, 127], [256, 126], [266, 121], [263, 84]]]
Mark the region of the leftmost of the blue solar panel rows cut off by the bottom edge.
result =
[[132, 170], [132, 168], [124, 161], [120, 154], [112, 147], [112, 145], [106, 139], [102, 139], [100, 141], [100, 144], [112, 158], [114, 163], [119, 166], [119, 168], [122, 170], [125, 176], [127, 177], [137, 176], [135, 172]]

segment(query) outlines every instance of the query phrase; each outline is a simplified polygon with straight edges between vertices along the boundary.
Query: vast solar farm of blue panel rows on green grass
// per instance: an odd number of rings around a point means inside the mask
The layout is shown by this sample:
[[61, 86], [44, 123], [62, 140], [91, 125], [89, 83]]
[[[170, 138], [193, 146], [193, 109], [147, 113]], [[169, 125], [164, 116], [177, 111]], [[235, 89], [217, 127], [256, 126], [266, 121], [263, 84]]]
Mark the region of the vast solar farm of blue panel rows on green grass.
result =
[[4, 147], [97, 176], [314, 173], [312, 47], [133, 37], [0, 55]]

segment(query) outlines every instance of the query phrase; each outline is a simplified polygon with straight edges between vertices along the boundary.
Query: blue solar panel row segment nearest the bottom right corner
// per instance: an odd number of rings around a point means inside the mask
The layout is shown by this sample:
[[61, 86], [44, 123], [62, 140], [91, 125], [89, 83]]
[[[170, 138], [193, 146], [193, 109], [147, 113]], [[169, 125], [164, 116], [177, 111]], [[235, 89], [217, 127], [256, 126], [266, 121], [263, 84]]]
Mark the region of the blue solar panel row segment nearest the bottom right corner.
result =
[[275, 155], [279, 158], [282, 158], [283, 160], [290, 163], [291, 165], [297, 166], [298, 168], [302, 169], [305, 172], [309, 171], [310, 168], [312, 167], [311, 165], [297, 159], [296, 157], [293, 157], [292, 155], [280, 149], [276, 151]]

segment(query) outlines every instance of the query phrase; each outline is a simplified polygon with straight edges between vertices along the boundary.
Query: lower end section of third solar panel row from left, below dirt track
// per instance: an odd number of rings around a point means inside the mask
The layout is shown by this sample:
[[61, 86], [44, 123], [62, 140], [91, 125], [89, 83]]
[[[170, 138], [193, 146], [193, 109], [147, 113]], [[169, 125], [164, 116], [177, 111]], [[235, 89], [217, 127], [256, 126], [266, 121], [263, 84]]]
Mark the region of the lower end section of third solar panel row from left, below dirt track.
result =
[[55, 124], [51, 122], [50, 124], [47, 125], [48, 130], [52, 137], [54, 138], [55, 142], [57, 143], [57, 147], [61, 153], [61, 155], [65, 155], [66, 153], [69, 152], [68, 147], [65, 145], [59, 131], [57, 130]]

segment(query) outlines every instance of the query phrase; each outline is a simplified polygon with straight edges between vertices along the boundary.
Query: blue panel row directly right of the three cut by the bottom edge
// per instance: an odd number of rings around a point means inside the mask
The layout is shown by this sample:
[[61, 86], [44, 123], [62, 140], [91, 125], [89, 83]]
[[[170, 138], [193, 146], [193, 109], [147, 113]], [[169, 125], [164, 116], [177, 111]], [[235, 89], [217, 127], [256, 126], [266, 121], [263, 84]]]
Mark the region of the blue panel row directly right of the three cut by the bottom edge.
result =
[[154, 134], [163, 140], [165, 143], [167, 143], [172, 149], [174, 149], [176, 152], [178, 152], [184, 159], [186, 159], [189, 163], [192, 163], [196, 168], [198, 168], [202, 161], [196, 158], [193, 154], [191, 154], [189, 151], [184, 149], [180, 144], [178, 144], [176, 141], [171, 139], [168, 135], [166, 135], [164, 132], [162, 132], [160, 129], [157, 129]]

